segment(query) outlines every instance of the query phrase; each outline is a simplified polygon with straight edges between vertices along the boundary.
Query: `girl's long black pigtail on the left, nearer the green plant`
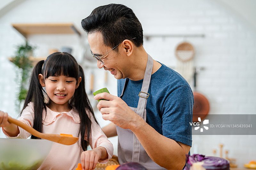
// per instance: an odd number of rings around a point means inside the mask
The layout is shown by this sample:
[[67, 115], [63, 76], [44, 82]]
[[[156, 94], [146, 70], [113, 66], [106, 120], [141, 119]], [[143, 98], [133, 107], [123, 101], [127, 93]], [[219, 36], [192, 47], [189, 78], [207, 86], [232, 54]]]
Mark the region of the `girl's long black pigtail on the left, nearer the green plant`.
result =
[[[46, 110], [46, 106], [44, 103], [44, 94], [43, 94], [43, 88], [39, 82], [38, 75], [42, 74], [42, 66], [44, 64], [44, 60], [39, 61], [36, 66], [34, 67], [30, 83], [29, 83], [29, 89], [28, 94], [25, 99], [25, 103], [23, 106], [23, 109], [20, 112], [20, 115], [22, 111], [28, 106], [29, 102], [34, 103], [34, 125], [33, 128], [36, 129], [39, 132], [42, 132], [42, 118], [43, 118], [43, 109]], [[32, 139], [39, 139], [35, 136], [31, 136]]]

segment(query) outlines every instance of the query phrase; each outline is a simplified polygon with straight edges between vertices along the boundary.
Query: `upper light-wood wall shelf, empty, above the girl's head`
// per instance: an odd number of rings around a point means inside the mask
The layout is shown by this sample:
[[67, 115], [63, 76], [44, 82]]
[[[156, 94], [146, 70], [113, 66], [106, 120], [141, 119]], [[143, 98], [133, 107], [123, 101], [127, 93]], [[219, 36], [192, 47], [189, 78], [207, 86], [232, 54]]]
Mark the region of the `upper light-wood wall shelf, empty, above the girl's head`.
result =
[[77, 34], [81, 33], [72, 23], [38, 23], [38, 24], [12, 24], [25, 38], [32, 34]]

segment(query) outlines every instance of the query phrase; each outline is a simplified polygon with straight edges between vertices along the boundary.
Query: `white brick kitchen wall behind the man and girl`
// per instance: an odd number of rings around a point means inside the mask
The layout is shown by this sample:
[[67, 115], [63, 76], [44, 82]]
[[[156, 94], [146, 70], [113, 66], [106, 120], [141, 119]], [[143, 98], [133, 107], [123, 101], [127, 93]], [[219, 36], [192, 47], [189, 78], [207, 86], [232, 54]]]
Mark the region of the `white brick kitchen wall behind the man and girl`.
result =
[[[81, 0], [26, 0], [0, 18], [0, 109], [12, 117], [15, 109], [18, 84], [13, 64], [7, 57], [14, 55], [15, 46], [24, 38], [12, 28], [11, 23], [72, 22], [83, 33], [81, 19], [92, 9], [109, 3], [123, 3], [131, 7], [141, 21], [144, 34], [204, 34], [204, 38], [155, 37], [145, 39], [146, 51], [167, 66], [175, 67], [176, 46], [187, 40], [195, 48], [194, 64], [204, 67], [197, 76], [197, 91], [203, 93], [210, 102], [210, 114], [255, 114], [256, 113], [256, 31], [249, 23], [237, 17], [234, 11], [226, 9], [212, 0], [180, 1], [81, 1]], [[85, 36], [83, 39], [86, 39]], [[48, 55], [49, 48], [71, 46], [73, 55], [81, 59], [80, 39], [76, 35], [36, 35], [29, 42], [38, 46], [36, 56]], [[104, 83], [104, 71], [97, 68], [85, 70], [87, 83], [94, 72], [95, 90], [108, 87], [116, 94], [116, 81], [108, 74], [108, 84]], [[193, 82], [189, 82], [192, 89]], [[101, 126], [107, 124], [96, 116]], [[3, 137], [3, 133], [0, 133]], [[256, 136], [193, 136], [191, 153], [212, 155], [220, 143], [229, 150], [229, 157], [236, 158], [240, 167], [251, 159], [256, 159]], [[115, 145], [116, 138], [111, 139]], [[217, 153], [217, 156], [219, 153]]]

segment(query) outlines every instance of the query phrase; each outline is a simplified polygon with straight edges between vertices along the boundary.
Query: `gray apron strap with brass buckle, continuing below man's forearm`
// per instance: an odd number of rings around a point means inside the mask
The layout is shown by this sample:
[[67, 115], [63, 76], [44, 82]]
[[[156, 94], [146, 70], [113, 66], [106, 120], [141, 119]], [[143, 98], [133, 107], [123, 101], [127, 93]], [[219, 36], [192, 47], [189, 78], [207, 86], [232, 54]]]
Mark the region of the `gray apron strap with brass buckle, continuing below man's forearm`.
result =
[[[142, 88], [139, 93], [139, 103], [137, 107], [136, 113], [142, 117], [146, 121], [146, 113], [144, 109], [146, 108], [147, 100], [148, 100], [148, 88], [150, 84], [151, 74], [153, 68], [153, 59], [150, 55], [148, 55], [147, 67], [144, 74], [144, 79], [142, 83]], [[133, 151], [132, 151], [132, 162], [139, 162], [140, 159], [140, 141], [133, 133]]]

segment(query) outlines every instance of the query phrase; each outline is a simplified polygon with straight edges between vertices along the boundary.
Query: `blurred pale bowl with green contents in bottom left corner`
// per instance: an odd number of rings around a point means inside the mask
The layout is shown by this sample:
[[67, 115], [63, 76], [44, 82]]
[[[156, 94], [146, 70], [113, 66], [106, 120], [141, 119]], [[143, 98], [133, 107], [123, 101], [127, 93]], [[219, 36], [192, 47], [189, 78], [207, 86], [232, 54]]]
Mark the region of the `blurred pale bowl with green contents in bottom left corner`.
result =
[[51, 148], [44, 139], [0, 138], [0, 170], [38, 169]]

